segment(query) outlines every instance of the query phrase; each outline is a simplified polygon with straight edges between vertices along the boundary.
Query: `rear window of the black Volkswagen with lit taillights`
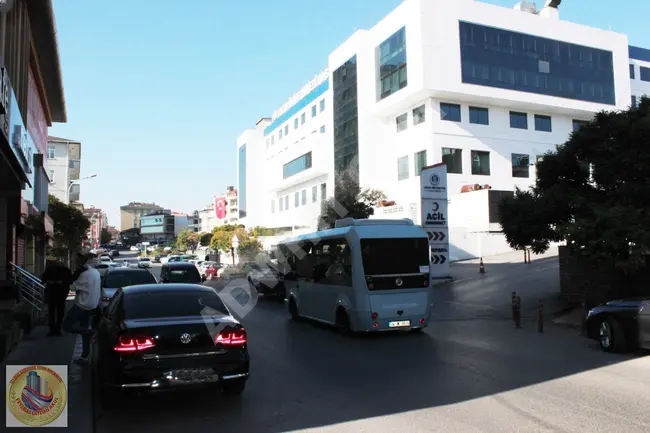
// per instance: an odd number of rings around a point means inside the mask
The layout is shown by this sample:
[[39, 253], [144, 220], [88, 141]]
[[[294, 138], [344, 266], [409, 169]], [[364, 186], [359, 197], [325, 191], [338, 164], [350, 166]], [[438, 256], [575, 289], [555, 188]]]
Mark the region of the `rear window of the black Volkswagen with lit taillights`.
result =
[[193, 290], [128, 293], [124, 310], [126, 319], [229, 314], [215, 292]]

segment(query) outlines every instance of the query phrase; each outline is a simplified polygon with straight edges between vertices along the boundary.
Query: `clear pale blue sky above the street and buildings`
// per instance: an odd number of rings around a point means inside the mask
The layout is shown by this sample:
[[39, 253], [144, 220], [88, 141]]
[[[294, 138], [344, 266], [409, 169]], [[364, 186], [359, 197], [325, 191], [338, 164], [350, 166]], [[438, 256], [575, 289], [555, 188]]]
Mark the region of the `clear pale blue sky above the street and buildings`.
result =
[[[179, 212], [207, 204], [236, 185], [237, 136], [400, 3], [54, 0], [68, 123], [50, 135], [80, 140], [82, 176], [98, 175], [81, 200], [118, 227], [130, 201]], [[560, 13], [650, 48], [650, 2], [621, 3], [565, 0]]]

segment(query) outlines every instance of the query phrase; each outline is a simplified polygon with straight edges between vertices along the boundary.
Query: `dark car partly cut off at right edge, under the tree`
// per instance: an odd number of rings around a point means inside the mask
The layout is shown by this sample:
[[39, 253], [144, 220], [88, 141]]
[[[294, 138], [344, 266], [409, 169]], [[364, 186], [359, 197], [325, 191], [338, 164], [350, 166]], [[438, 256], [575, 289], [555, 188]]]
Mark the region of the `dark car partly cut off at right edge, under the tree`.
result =
[[586, 328], [606, 352], [650, 349], [650, 297], [601, 304], [587, 314]]

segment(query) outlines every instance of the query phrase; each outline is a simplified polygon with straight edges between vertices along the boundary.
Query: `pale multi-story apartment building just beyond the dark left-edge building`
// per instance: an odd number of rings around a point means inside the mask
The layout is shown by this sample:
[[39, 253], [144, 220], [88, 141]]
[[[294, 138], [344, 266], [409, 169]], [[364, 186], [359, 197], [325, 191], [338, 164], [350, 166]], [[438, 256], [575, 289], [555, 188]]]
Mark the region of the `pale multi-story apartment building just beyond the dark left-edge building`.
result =
[[81, 170], [81, 142], [47, 137], [47, 163], [50, 194], [66, 204], [79, 201], [78, 183]]

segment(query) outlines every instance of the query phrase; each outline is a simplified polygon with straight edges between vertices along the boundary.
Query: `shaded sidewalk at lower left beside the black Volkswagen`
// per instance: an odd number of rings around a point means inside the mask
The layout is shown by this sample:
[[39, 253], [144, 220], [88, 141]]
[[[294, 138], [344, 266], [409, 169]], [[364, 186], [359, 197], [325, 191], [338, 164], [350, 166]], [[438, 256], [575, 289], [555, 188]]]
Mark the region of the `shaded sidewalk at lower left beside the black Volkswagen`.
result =
[[[68, 427], [60, 429], [74, 433], [92, 433], [93, 431], [93, 399], [91, 392], [91, 374], [88, 367], [81, 367], [71, 361], [75, 349], [81, 344], [81, 338], [74, 334], [64, 334], [61, 337], [48, 337], [47, 326], [35, 327], [7, 355], [2, 363], [6, 383], [6, 365], [67, 365], [68, 366]], [[79, 340], [79, 343], [77, 343]], [[79, 353], [81, 349], [78, 349]], [[6, 393], [3, 393], [6, 407]], [[6, 416], [6, 415], [5, 415]], [[1, 423], [0, 431], [12, 431], [5, 427], [6, 420]], [[36, 427], [21, 428], [20, 432], [36, 431]]]

